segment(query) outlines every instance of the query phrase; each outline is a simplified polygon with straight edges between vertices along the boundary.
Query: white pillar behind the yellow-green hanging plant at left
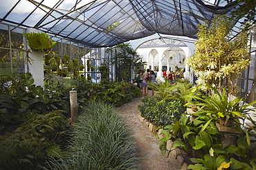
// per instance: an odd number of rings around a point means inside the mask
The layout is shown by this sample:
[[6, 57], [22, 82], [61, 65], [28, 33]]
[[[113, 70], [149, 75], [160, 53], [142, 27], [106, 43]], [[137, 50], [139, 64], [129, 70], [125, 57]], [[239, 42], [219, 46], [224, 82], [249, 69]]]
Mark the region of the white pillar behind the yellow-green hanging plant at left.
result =
[[[35, 30], [34, 28], [28, 28], [26, 32], [40, 32], [39, 30]], [[28, 49], [30, 47], [28, 46]], [[40, 85], [44, 87], [44, 54], [42, 52], [36, 52], [30, 49], [28, 56], [31, 59], [31, 64], [28, 64], [28, 70], [26, 72], [30, 72], [32, 74], [32, 78], [34, 79], [35, 85]]]

